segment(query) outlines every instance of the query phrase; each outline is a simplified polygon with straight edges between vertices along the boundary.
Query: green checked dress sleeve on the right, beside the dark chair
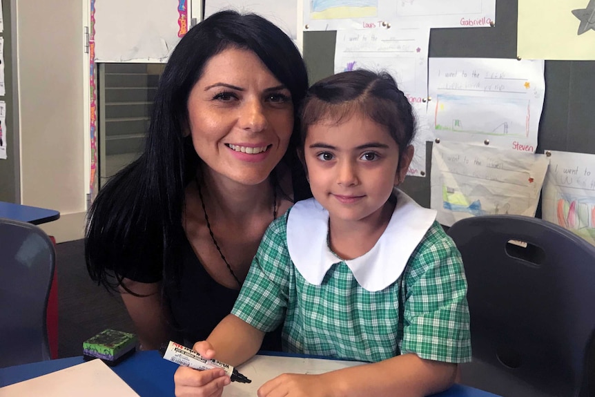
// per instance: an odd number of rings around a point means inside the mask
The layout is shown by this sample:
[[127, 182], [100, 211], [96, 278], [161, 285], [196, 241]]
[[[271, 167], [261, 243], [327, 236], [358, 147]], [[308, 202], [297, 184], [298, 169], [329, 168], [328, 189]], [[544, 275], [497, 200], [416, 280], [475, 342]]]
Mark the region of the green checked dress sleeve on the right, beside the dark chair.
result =
[[465, 271], [458, 249], [438, 222], [411, 255], [404, 286], [401, 353], [442, 362], [470, 361]]

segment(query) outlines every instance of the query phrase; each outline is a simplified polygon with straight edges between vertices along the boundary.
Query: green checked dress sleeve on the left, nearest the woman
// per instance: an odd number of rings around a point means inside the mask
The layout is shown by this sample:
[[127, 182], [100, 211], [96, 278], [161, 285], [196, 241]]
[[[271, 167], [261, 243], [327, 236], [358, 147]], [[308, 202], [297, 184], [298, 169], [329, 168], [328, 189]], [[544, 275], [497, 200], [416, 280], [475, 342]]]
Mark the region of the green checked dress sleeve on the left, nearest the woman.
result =
[[285, 318], [291, 278], [286, 225], [287, 213], [266, 229], [231, 311], [264, 332], [273, 331]]

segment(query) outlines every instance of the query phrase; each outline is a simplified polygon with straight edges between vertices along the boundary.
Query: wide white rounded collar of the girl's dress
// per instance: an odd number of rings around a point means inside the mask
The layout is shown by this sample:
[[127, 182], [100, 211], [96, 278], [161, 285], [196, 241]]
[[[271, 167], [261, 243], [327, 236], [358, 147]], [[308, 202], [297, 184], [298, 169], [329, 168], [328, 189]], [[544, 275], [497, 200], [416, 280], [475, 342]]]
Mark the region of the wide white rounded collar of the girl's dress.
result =
[[[364, 255], [344, 260], [355, 280], [367, 291], [393, 284], [409, 257], [436, 220], [436, 211], [425, 209], [395, 189], [397, 205], [386, 231]], [[327, 244], [329, 211], [315, 199], [297, 202], [287, 220], [287, 248], [293, 264], [311, 284], [320, 285], [326, 272], [341, 260]]]

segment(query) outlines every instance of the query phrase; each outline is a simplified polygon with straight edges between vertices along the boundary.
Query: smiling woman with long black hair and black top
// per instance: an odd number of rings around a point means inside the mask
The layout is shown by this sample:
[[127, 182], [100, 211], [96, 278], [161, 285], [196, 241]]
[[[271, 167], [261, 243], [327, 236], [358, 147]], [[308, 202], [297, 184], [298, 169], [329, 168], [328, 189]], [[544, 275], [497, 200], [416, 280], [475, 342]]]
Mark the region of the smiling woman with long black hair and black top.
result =
[[255, 14], [213, 14], [179, 41], [144, 153], [101, 189], [86, 231], [89, 274], [121, 292], [143, 349], [204, 340], [266, 226], [311, 195], [295, 153], [307, 85], [291, 39]]

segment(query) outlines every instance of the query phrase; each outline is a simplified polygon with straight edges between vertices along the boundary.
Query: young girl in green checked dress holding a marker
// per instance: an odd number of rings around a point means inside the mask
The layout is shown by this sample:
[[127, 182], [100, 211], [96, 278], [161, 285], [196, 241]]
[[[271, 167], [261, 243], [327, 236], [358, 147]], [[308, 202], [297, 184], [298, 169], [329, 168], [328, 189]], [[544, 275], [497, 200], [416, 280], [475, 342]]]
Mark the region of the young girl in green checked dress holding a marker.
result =
[[[314, 84], [300, 156], [313, 199], [266, 231], [232, 314], [200, 354], [238, 365], [283, 323], [284, 351], [371, 362], [284, 374], [259, 396], [426, 396], [471, 359], [467, 283], [438, 222], [398, 186], [415, 118], [387, 74], [357, 70]], [[219, 395], [222, 370], [180, 367], [177, 396]]]

